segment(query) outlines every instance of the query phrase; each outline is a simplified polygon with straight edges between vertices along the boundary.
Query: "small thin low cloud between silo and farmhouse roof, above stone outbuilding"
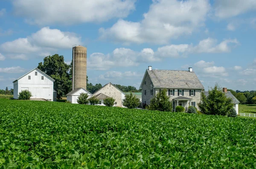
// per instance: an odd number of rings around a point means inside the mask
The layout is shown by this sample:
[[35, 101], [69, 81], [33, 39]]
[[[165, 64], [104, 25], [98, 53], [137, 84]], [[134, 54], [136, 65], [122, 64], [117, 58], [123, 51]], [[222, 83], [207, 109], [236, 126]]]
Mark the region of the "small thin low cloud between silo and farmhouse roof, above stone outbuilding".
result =
[[119, 71], [108, 71], [104, 75], [100, 75], [99, 79], [122, 79], [122, 78], [136, 78], [140, 75], [140, 73], [137, 72], [119, 72]]

